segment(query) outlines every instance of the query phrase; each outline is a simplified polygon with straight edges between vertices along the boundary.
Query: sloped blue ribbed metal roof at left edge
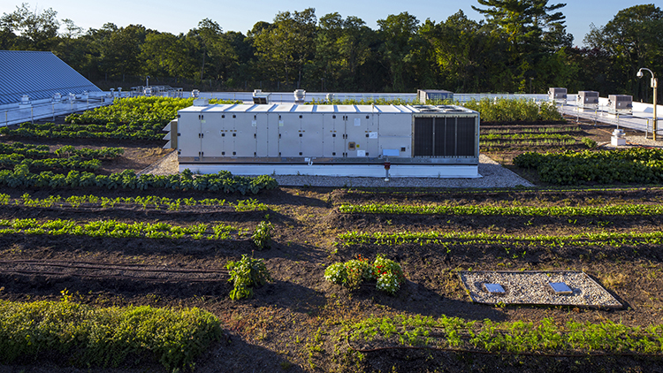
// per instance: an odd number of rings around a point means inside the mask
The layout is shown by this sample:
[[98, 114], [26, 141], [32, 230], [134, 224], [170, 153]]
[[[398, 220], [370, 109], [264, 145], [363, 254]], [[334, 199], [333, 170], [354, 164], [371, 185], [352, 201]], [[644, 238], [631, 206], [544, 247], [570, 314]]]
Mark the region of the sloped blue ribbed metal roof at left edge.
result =
[[0, 50], [0, 104], [19, 103], [23, 95], [41, 100], [83, 91], [101, 89], [51, 52]]

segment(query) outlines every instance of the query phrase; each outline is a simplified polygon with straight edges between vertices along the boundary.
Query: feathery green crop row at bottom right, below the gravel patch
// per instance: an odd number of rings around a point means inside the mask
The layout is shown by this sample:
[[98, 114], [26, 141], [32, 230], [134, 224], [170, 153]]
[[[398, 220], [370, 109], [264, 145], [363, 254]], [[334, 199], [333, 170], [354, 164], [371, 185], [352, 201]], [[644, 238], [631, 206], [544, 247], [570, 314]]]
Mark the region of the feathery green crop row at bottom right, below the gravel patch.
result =
[[[493, 323], [458, 317], [370, 317], [346, 327], [348, 339], [369, 346], [428, 346], [459, 350], [539, 354], [662, 354], [663, 325]], [[388, 348], [388, 347], [387, 347]]]

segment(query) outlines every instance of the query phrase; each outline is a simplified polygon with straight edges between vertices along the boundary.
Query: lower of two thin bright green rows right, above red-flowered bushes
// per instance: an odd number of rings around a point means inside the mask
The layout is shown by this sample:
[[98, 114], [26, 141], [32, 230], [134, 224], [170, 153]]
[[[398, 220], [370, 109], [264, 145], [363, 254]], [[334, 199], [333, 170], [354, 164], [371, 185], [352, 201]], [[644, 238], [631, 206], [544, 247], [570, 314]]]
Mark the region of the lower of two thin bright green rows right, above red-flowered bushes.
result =
[[344, 245], [405, 245], [435, 244], [443, 246], [510, 245], [530, 247], [596, 246], [621, 247], [625, 245], [660, 245], [663, 232], [596, 232], [567, 236], [512, 235], [476, 232], [345, 232], [338, 240]]

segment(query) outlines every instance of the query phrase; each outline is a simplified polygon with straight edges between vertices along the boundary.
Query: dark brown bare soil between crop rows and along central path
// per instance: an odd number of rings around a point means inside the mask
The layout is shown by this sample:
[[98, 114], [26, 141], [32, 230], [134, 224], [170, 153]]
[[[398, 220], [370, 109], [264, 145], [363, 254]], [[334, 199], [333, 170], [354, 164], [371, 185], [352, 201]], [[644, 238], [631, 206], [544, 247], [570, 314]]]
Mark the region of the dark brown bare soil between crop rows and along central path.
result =
[[[583, 130], [586, 133], [591, 129]], [[600, 134], [600, 133], [599, 133]], [[597, 136], [599, 135], [597, 134]], [[26, 140], [21, 140], [27, 142]], [[50, 144], [51, 145], [51, 144]], [[58, 143], [52, 145], [57, 146]], [[76, 144], [87, 146], [90, 143]], [[122, 144], [123, 146], [126, 144]], [[96, 144], [118, 146], [118, 144]], [[127, 149], [132, 148], [127, 147]], [[140, 169], [153, 162], [157, 147], [138, 146], [126, 151], [124, 161], [113, 161], [105, 171], [133, 165]], [[143, 156], [146, 149], [155, 149]], [[133, 153], [135, 151], [135, 153]], [[141, 155], [141, 156], [135, 156]], [[187, 207], [180, 211], [98, 206], [25, 208], [3, 206], [0, 219], [117, 219], [166, 222], [172, 225], [225, 223], [253, 231], [269, 214], [275, 225], [271, 248], [257, 250], [250, 240], [149, 240], [95, 239], [78, 236], [11, 234], [0, 236], [0, 260], [43, 260], [66, 263], [141, 264], [180, 270], [224, 269], [229, 260], [253, 254], [263, 258], [274, 279], [255, 289], [255, 297], [231, 301], [225, 279], [196, 282], [176, 277], [164, 281], [135, 278], [87, 278], [84, 274], [19, 274], [0, 271], [0, 298], [12, 301], [57, 300], [67, 289], [74, 301], [99, 307], [152, 305], [204, 308], [221, 321], [225, 339], [212, 346], [196, 363], [201, 372], [300, 372], [300, 371], [663, 371], [661, 358], [615, 356], [513, 356], [448, 353], [426, 350], [390, 350], [363, 357], [348, 350], [342, 325], [370, 316], [396, 314], [458, 316], [468, 320], [532, 321], [550, 317], [558, 322], [600, 323], [611, 320], [627, 325], [660, 324], [663, 319], [663, 247], [528, 247], [513, 255], [498, 245], [455, 247], [447, 252], [438, 245], [380, 247], [340, 245], [337, 235], [363, 232], [496, 232], [508, 234], [574, 234], [578, 232], [656, 232], [661, 217], [499, 217], [346, 215], [341, 203], [393, 202], [408, 204], [452, 203], [481, 205], [599, 206], [606, 203], [659, 204], [659, 188], [626, 188], [592, 191], [457, 191], [368, 190], [281, 187], [257, 195], [226, 195], [181, 191], [19, 190], [3, 193], [18, 198], [29, 193], [95, 194], [118, 197], [161, 195], [171, 198], [221, 198], [230, 202], [255, 198], [269, 211], [235, 212], [227, 207]], [[324, 280], [331, 263], [377, 254], [399, 262], [407, 282], [394, 296], [369, 286], [350, 292]], [[36, 268], [36, 267], [35, 267]], [[457, 270], [584, 270], [621, 301], [621, 309], [560, 307], [491, 307], [473, 303], [456, 276]], [[178, 275], [179, 276], [179, 275]], [[318, 348], [319, 347], [319, 348]], [[57, 360], [56, 360], [57, 361]], [[52, 360], [17, 362], [0, 366], [0, 372], [80, 372]], [[158, 365], [95, 369], [105, 372], [163, 371]]]

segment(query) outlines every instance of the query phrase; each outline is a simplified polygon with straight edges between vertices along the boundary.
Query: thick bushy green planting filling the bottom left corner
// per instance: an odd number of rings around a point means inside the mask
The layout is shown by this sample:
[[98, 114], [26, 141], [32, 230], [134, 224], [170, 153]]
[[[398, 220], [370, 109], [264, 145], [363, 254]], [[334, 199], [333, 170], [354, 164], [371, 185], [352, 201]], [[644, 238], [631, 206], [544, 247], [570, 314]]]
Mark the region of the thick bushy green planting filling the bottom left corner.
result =
[[169, 370], [193, 368], [194, 359], [222, 335], [217, 317], [199, 308], [92, 308], [66, 300], [0, 301], [0, 362], [4, 364], [57, 353], [67, 364], [81, 368], [146, 360], [156, 360]]

